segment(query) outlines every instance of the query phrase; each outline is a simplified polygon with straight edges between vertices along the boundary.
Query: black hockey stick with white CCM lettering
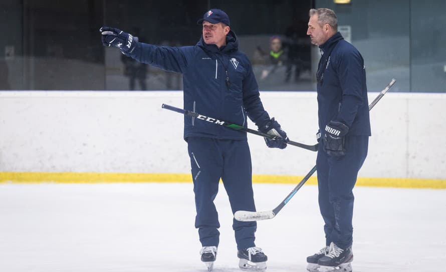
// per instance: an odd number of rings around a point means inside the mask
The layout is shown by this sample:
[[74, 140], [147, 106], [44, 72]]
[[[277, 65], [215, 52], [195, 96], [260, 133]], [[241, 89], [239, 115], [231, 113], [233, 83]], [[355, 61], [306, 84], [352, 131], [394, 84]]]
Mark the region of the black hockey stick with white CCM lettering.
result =
[[[170, 106], [170, 105], [167, 105], [167, 104], [162, 104], [161, 107], [163, 109], [167, 109], [167, 110], [171, 110], [171, 111], [174, 111], [174, 112], [182, 113], [184, 115], [192, 116], [192, 117], [195, 117], [196, 119], [207, 121], [207, 122], [213, 123], [215, 125], [220, 125], [220, 126], [229, 127], [229, 128], [235, 129], [235, 130], [245, 131], [245, 132], [256, 134], [256, 135], [259, 135], [259, 136], [262, 136], [262, 137], [266, 137], [266, 138], [269, 138], [269, 139], [276, 138], [276, 136], [269, 135], [269, 134], [266, 134], [266, 133], [263, 133], [263, 132], [260, 132], [260, 131], [254, 130], [254, 129], [249, 129], [249, 128], [246, 128], [244, 126], [233, 124], [233, 123], [228, 122], [228, 121], [222, 121], [222, 120], [218, 120], [218, 119], [215, 119], [215, 118], [212, 118], [212, 117], [207, 117], [207, 116], [195, 113], [195, 112], [186, 111], [186, 110], [183, 110], [183, 109], [180, 109], [180, 108], [177, 108], [177, 107], [173, 107], [173, 106]], [[301, 147], [301, 148], [304, 148], [304, 149], [308, 149], [308, 150], [311, 150], [311, 151], [317, 151], [317, 149], [318, 149], [318, 144], [306, 145], [306, 144], [301, 144], [301, 143], [294, 142], [294, 141], [289, 141], [289, 142], [287, 142], [287, 144], [294, 145], [294, 146], [297, 146], [297, 147]]]

